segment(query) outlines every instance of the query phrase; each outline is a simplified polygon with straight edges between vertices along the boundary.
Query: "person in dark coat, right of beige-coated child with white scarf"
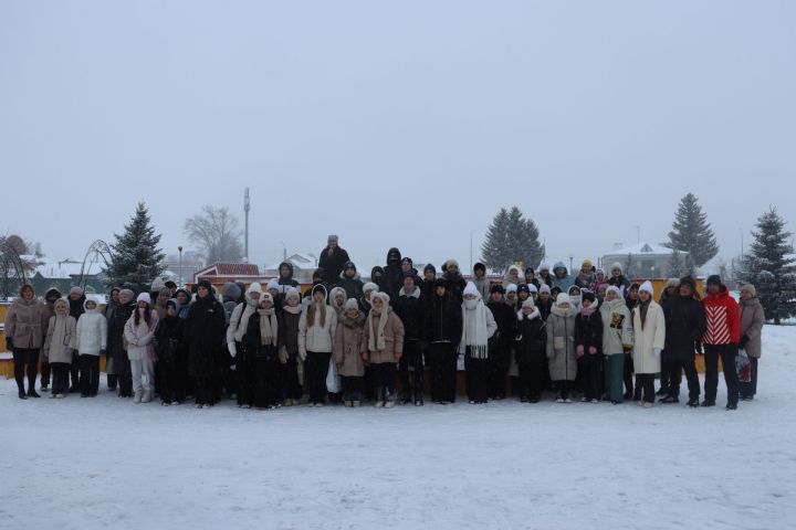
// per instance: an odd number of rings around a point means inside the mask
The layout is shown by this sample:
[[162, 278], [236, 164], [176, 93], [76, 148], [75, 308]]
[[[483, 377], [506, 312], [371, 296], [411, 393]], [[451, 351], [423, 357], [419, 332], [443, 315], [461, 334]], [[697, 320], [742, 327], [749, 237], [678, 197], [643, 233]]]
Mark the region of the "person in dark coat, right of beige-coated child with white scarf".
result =
[[[415, 274], [411, 272], [404, 275], [404, 287], [398, 292], [398, 298], [394, 306], [396, 315], [404, 322], [404, 354], [400, 358], [398, 368], [401, 382], [401, 404], [415, 401], [416, 406], [422, 406], [422, 352], [426, 349], [426, 324], [428, 310], [426, 298], [420, 293], [420, 287], [415, 285]], [[410, 394], [409, 367], [415, 371], [415, 389]]]

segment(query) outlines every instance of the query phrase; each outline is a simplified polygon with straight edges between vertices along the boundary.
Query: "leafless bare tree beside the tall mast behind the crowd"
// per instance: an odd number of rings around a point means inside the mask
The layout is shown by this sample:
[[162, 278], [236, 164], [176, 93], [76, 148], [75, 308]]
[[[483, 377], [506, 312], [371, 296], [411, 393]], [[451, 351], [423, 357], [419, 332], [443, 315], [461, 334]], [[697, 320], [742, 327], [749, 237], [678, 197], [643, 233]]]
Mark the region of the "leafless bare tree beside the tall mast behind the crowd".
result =
[[182, 231], [207, 263], [240, 262], [243, 257], [239, 221], [228, 208], [205, 205], [185, 221]]

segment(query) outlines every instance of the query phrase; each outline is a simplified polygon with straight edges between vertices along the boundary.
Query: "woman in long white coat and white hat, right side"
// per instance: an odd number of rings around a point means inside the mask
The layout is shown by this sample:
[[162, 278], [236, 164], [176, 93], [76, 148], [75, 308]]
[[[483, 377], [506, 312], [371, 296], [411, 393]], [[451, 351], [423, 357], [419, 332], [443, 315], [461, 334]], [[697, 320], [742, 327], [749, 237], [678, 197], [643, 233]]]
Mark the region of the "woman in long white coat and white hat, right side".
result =
[[652, 284], [645, 282], [639, 287], [639, 301], [633, 308], [633, 368], [643, 390], [639, 406], [654, 404], [654, 377], [660, 373], [660, 353], [666, 342], [666, 319], [663, 308], [652, 299]]

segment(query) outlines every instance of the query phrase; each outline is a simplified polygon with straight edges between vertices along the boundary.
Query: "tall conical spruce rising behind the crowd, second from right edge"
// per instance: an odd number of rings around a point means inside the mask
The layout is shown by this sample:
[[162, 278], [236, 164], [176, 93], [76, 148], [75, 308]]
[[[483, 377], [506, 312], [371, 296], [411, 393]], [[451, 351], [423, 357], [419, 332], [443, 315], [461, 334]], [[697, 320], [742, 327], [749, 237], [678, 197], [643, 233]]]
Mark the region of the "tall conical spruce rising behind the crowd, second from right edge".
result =
[[664, 243], [664, 246], [688, 252], [694, 268], [701, 267], [719, 253], [708, 214], [702, 212], [702, 206], [693, 193], [680, 200], [672, 231], [669, 232], [669, 243]]

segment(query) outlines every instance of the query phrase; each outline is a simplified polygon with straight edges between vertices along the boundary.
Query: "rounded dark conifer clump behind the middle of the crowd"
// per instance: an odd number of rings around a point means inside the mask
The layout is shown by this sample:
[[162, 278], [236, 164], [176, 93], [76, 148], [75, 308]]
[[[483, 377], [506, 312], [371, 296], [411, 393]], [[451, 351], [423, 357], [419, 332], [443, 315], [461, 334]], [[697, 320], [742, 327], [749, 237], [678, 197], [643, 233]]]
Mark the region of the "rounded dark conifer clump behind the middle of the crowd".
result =
[[486, 230], [486, 241], [481, 246], [486, 266], [503, 273], [514, 262], [535, 266], [544, 257], [536, 223], [523, 219], [517, 206], [511, 211], [502, 208]]

